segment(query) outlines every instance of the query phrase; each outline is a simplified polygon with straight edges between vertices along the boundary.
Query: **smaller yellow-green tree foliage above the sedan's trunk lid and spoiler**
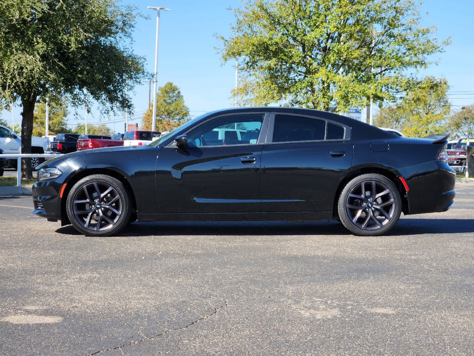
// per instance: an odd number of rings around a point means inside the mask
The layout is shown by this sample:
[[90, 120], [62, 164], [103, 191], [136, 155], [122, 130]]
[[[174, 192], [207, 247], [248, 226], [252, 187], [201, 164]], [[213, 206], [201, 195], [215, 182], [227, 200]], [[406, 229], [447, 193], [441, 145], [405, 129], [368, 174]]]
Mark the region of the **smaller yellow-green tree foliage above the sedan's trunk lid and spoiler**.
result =
[[410, 89], [397, 103], [383, 107], [375, 116], [375, 125], [397, 129], [409, 137], [448, 133], [451, 110], [446, 78], [427, 76]]

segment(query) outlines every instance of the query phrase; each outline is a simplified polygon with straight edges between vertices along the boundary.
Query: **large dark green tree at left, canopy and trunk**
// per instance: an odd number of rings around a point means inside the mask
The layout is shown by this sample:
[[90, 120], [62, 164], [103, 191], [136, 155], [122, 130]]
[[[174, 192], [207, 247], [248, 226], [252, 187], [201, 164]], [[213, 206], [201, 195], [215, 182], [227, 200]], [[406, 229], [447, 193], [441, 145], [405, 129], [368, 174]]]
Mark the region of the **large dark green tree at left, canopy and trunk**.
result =
[[[138, 15], [118, 0], [2, 1], [0, 105], [21, 102], [22, 152], [31, 152], [38, 98], [67, 98], [73, 106], [95, 101], [103, 112], [132, 107], [126, 88], [146, 75], [144, 59], [129, 46]], [[22, 171], [32, 177], [29, 162]]]

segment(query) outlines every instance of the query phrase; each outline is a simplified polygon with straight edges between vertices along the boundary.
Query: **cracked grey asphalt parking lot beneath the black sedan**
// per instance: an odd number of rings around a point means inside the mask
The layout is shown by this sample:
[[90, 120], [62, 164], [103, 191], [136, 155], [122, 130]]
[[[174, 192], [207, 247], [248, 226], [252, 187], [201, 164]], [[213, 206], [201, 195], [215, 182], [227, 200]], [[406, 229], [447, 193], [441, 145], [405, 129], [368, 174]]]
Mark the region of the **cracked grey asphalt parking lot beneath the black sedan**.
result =
[[474, 185], [389, 236], [337, 222], [79, 235], [0, 197], [0, 355], [473, 355]]

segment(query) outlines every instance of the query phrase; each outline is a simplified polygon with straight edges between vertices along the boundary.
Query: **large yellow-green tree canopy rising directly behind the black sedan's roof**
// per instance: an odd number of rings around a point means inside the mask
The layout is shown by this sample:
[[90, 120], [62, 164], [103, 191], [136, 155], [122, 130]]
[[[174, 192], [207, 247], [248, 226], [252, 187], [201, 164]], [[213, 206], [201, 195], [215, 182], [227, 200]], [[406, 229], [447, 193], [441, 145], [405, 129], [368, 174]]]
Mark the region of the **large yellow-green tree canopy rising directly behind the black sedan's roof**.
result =
[[[243, 79], [241, 104], [281, 103], [344, 112], [351, 105], [394, 100], [426, 68], [438, 42], [420, 25], [410, 0], [245, 0], [234, 9], [222, 61]], [[373, 70], [374, 69], [374, 70]]]

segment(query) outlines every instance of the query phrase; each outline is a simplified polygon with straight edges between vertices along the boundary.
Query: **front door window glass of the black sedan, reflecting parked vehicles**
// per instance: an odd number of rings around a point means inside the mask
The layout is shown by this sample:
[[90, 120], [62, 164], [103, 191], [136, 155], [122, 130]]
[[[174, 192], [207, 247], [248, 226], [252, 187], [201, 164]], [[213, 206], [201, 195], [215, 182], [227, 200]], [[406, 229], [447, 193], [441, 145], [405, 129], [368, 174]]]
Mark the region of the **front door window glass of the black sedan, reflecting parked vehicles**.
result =
[[188, 145], [227, 146], [256, 144], [265, 114], [222, 116], [189, 132]]

